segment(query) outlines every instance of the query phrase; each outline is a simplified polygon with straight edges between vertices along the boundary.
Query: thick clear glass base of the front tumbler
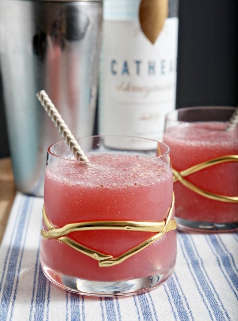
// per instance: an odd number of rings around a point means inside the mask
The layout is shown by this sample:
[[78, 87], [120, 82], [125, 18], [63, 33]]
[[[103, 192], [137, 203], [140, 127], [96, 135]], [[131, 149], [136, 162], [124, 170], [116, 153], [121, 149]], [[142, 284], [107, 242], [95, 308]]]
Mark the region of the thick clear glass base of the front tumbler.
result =
[[149, 291], [165, 282], [174, 270], [173, 265], [173, 267], [168, 267], [165, 271], [162, 271], [162, 273], [156, 273], [148, 277], [104, 282], [70, 277], [53, 271], [46, 266], [41, 265], [41, 267], [45, 276], [61, 289], [78, 294], [100, 297], [128, 296]]

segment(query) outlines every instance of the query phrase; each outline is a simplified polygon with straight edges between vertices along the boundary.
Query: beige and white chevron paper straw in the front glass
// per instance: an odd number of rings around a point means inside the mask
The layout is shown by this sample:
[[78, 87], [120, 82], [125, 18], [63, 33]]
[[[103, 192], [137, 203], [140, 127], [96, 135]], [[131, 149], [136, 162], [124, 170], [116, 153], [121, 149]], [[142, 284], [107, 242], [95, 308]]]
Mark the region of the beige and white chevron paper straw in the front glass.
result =
[[87, 156], [79, 146], [77, 140], [74, 138], [74, 135], [71, 133], [68, 126], [65, 124], [63, 118], [60, 116], [58, 110], [55, 108], [47, 93], [44, 90], [41, 90], [36, 94], [36, 97], [40, 100], [41, 105], [47, 111], [47, 114], [50, 116], [50, 119], [54, 123], [55, 127], [58, 129], [59, 133], [66, 141], [75, 158], [77, 160], [89, 162]]

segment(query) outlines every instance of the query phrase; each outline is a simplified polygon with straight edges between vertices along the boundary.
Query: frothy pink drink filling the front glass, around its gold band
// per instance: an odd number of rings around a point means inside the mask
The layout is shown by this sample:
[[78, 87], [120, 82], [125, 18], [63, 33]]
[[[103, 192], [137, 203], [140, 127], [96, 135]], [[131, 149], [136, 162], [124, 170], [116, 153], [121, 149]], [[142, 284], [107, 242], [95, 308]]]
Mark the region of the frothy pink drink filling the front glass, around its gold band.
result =
[[[166, 148], [168, 149], [167, 146]], [[142, 153], [110, 150], [90, 152], [87, 156], [94, 164], [91, 167], [60, 157], [53, 157], [53, 161], [48, 163], [44, 204], [53, 225], [62, 227], [80, 221], [157, 222], [165, 219], [173, 192], [172, 171], [169, 160], [166, 161], [168, 155], [164, 159], [151, 160]], [[155, 152], [153, 156], [156, 156]], [[44, 224], [43, 227], [47, 230]], [[116, 257], [154, 234], [125, 230], [87, 230], [71, 232], [68, 237]], [[118, 293], [145, 290], [165, 281], [171, 275], [175, 258], [174, 230], [165, 233], [160, 240], [124, 262], [109, 267], [99, 267], [96, 260], [57, 239], [41, 240], [41, 265], [44, 273], [51, 281], [66, 289], [70, 286], [69, 282], [64, 283], [64, 276], [80, 282], [101, 282], [100, 286], [108, 282], [110, 287], [121, 281], [125, 281], [125, 287], [127, 280], [141, 279], [143, 284], [131, 289], [130, 285], [124, 291], [118, 289]], [[152, 280], [153, 275], [157, 275], [157, 282]], [[152, 284], [145, 282], [148, 278]], [[85, 287], [83, 290], [71, 287], [69, 290], [90, 292], [88, 288], [84, 289]], [[110, 295], [108, 288], [105, 292]], [[104, 291], [100, 288], [97, 293], [94, 287], [90, 294], [92, 293], [103, 295]]]

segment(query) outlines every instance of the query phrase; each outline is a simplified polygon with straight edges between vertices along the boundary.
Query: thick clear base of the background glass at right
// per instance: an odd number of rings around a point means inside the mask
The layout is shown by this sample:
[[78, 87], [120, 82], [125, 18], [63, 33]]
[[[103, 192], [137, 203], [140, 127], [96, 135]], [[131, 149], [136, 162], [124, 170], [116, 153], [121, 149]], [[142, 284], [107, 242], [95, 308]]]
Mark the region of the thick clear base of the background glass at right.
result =
[[177, 229], [185, 232], [227, 233], [238, 231], [238, 223], [210, 223], [175, 217]]

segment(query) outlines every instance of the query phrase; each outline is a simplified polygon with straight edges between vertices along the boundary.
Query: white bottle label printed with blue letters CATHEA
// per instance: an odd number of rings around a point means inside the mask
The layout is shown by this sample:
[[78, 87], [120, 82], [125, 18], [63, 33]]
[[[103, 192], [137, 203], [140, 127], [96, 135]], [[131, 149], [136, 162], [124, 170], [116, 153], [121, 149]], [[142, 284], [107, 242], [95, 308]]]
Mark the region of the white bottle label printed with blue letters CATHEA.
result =
[[[165, 20], [154, 44], [138, 21], [104, 22], [100, 134], [161, 140], [164, 116], [175, 108], [177, 40], [176, 17]], [[127, 147], [146, 148], [135, 144]]]

